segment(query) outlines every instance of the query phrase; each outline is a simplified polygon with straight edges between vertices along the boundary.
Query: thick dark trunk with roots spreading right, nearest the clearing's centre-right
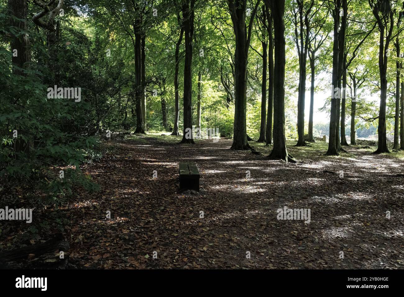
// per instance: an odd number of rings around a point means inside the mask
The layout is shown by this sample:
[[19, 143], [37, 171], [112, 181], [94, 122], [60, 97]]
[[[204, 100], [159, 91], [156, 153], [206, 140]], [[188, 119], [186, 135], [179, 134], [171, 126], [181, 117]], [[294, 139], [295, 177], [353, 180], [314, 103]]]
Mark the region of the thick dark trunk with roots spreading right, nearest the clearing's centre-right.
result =
[[276, 74], [274, 76], [274, 147], [268, 158], [296, 162], [288, 154], [285, 137], [285, 0], [270, 0], [266, 1], [266, 4], [269, 4], [271, 7], [274, 21], [274, 73]]

